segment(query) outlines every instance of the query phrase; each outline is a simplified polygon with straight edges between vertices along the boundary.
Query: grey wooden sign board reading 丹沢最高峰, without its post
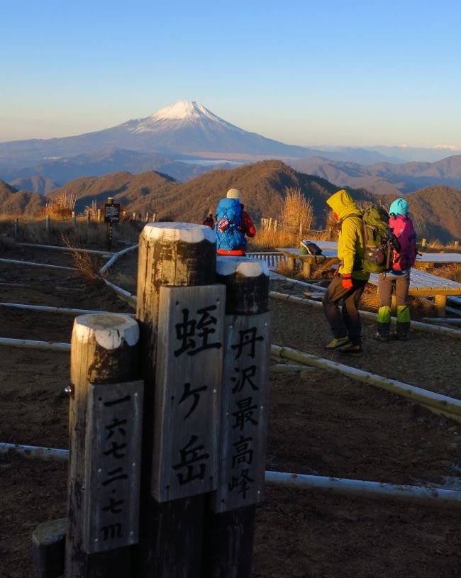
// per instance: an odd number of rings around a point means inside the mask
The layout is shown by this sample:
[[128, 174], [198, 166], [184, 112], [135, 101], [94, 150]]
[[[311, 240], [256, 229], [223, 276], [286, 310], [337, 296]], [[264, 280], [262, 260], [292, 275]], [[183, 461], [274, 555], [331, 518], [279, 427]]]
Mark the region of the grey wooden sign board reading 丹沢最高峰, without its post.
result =
[[264, 499], [271, 313], [226, 316], [219, 484], [224, 512]]

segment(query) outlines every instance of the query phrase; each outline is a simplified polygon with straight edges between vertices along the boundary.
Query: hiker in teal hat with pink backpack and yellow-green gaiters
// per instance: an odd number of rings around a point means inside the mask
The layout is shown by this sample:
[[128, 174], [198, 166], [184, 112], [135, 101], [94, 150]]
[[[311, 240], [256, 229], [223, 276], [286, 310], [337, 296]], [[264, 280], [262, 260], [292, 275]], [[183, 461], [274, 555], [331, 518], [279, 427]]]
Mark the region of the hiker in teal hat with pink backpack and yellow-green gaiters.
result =
[[[410, 269], [416, 260], [416, 231], [409, 217], [409, 204], [405, 199], [396, 199], [389, 207], [389, 228], [399, 241], [400, 250], [394, 250], [392, 269], [379, 274], [378, 293], [381, 305], [378, 310], [377, 333], [379, 341], [387, 343], [392, 337], [406, 341], [409, 338]], [[391, 301], [395, 291], [397, 307], [396, 333], [391, 336]]]

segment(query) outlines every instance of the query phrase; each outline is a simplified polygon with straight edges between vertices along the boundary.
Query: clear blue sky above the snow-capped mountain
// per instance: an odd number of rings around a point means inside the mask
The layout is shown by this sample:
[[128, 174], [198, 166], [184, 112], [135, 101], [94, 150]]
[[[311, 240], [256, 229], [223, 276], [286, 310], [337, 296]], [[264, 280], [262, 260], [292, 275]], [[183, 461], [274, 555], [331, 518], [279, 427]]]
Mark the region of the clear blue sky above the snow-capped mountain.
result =
[[191, 100], [289, 144], [461, 149], [459, 0], [8, 0], [0, 13], [0, 141]]

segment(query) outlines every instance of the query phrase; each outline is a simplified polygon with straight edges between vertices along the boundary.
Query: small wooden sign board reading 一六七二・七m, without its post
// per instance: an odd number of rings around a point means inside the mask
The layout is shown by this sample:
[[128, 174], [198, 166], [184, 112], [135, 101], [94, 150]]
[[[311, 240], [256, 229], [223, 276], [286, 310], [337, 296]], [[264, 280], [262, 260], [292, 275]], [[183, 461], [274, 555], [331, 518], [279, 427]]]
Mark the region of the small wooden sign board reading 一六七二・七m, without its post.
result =
[[85, 552], [137, 543], [142, 381], [89, 384], [85, 440]]

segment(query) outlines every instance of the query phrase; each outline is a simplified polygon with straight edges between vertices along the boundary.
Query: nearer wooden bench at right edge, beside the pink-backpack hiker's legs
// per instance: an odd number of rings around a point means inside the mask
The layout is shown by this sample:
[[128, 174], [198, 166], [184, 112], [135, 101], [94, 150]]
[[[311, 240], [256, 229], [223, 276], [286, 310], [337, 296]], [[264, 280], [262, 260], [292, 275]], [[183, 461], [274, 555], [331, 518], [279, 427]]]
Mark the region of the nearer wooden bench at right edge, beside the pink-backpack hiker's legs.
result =
[[[392, 277], [391, 273], [388, 273]], [[370, 283], [378, 284], [379, 275], [372, 273]], [[411, 269], [409, 295], [433, 296], [435, 311], [438, 317], [445, 317], [448, 295], [461, 295], [461, 283], [426, 273], [420, 269]]]

